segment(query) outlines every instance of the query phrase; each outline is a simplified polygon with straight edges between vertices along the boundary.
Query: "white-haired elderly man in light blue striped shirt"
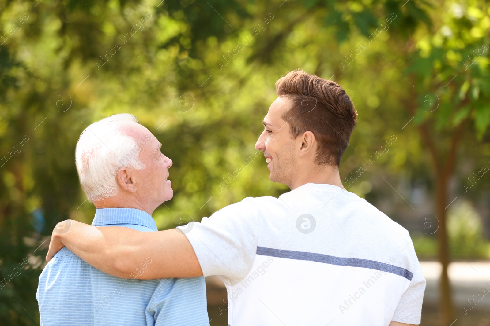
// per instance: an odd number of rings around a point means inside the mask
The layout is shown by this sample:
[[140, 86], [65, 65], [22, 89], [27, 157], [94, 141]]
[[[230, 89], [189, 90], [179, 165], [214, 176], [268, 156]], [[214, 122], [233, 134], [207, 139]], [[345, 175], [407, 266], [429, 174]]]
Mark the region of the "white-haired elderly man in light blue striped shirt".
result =
[[[97, 208], [92, 225], [157, 231], [151, 214], [173, 196], [167, 180], [172, 160], [137, 121], [133, 115], [116, 114], [80, 135], [76, 168], [83, 191]], [[39, 278], [41, 325], [208, 325], [204, 278], [138, 280], [153, 259], [142, 256], [130, 273], [117, 278], [67, 248], [60, 250]]]

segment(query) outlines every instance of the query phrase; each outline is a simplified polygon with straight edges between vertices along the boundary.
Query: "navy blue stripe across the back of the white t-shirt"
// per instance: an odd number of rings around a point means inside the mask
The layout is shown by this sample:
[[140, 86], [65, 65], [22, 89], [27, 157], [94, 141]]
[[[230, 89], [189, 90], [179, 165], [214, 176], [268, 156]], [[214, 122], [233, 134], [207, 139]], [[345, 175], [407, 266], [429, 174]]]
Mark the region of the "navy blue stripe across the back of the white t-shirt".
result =
[[375, 269], [375, 270], [403, 276], [409, 281], [412, 281], [412, 278], [414, 277], [414, 273], [412, 273], [411, 271], [405, 268], [401, 268], [395, 265], [390, 265], [384, 262], [370, 261], [368, 259], [335, 257], [329, 255], [316, 254], [312, 252], [279, 250], [279, 249], [272, 249], [266, 247], [257, 247], [257, 255], [296, 259], [298, 261], [317, 261], [317, 262], [323, 262], [326, 264], [339, 265], [339, 266], [370, 268], [370, 269]]

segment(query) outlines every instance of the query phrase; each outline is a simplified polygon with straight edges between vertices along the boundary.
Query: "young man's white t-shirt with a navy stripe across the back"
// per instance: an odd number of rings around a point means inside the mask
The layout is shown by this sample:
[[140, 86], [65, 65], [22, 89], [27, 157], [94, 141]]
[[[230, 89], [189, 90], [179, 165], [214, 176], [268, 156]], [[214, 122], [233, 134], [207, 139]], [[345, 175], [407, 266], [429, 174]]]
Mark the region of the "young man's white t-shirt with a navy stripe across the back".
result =
[[363, 198], [308, 183], [180, 227], [230, 326], [420, 324], [425, 279], [407, 230]]

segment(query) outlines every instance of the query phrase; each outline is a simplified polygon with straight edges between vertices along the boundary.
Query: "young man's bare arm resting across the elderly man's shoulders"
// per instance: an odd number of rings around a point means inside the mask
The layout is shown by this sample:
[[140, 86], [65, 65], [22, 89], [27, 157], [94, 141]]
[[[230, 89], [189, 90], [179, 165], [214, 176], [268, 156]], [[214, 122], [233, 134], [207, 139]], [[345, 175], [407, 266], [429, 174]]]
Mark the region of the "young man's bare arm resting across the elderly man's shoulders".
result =
[[[61, 233], [59, 230], [68, 231]], [[191, 243], [177, 229], [141, 232], [65, 220], [58, 223], [52, 233], [46, 260], [50, 261], [63, 246], [95, 268], [121, 278], [202, 276]]]

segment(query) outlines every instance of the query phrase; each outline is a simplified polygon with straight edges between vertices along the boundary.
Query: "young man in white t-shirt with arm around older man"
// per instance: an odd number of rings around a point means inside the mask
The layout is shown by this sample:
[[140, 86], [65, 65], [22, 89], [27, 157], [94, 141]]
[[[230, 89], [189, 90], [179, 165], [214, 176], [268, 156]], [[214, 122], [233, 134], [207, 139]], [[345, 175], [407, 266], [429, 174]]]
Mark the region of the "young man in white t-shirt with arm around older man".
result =
[[152, 264], [141, 279], [218, 275], [230, 326], [418, 325], [425, 280], [408, 232], [339, 176], [356, 125], [350, 98], [298, 70], [275, 89], [255, 147], [270, 179], [291, 192], [247, 197], [181, 232], [72, 221], [68, 232], [53, 232], [47, 260], [65, 245], [119, 277], [142, 257]]

